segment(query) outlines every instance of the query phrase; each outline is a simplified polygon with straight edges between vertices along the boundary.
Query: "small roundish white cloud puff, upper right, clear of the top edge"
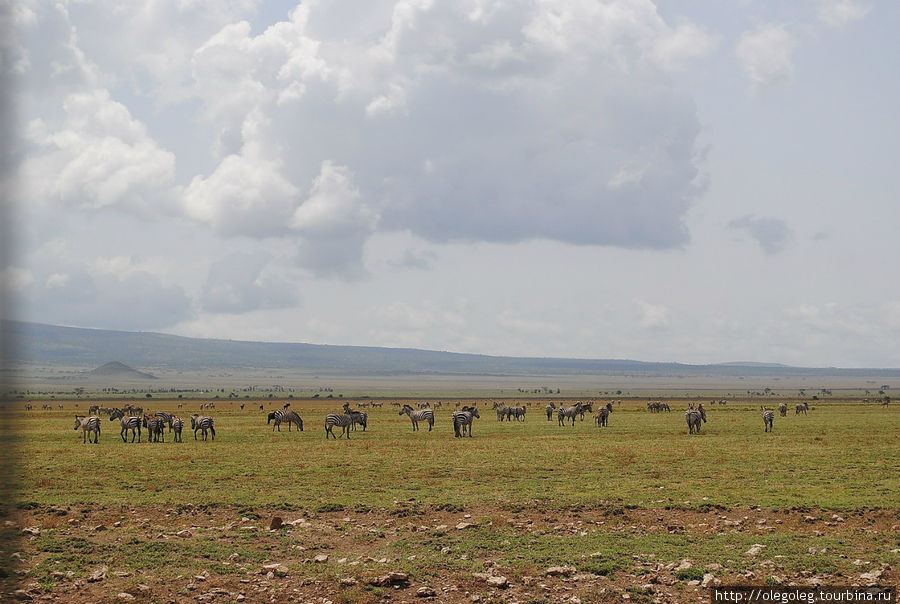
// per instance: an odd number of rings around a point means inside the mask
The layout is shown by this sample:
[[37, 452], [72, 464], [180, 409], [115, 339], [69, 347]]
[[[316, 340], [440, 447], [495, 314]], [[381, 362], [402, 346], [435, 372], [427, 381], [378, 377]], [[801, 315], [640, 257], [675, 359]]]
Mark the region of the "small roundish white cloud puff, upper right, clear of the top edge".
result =
[[754, 86], [788, 82], [794, 75], [797, 39], [783, 25], [768, 24], [741, 36], [735, 54]]

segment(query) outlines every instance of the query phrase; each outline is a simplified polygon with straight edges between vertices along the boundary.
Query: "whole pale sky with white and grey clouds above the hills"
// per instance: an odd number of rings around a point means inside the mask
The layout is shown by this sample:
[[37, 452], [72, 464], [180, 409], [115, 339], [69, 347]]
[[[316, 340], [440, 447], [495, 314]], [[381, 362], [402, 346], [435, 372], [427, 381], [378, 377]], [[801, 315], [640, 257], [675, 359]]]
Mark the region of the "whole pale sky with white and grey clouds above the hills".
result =
[[0, 6], [2, 315], [900, 367], [900, 3]]

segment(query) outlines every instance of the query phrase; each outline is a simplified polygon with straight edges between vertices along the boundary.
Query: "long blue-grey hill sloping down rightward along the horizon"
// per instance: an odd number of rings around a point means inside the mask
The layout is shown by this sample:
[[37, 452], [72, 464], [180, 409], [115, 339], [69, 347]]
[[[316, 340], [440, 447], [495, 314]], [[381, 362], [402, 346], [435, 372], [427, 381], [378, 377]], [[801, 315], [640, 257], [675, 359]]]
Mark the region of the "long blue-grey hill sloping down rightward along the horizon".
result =
[[688, 365], [623, 359], [498, 357], [411, 348], [329, 346], [185, 338], [160, 333], [0, 321], [4, 366], [90, 370], [109, 359], [157, 373], [284, 369], [315, 375], [881, 376], [900, 369], [789, 367], [769, 363]]

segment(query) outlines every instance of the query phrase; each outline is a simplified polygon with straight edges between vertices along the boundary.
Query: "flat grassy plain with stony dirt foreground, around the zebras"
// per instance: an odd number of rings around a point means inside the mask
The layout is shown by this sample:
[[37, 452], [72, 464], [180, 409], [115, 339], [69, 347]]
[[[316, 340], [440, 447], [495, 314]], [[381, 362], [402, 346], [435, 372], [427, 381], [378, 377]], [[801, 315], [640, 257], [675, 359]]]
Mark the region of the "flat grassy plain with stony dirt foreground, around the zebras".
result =
[[[98, 401], [186, 420], [182, 443], [134, 444], [107, 415], [82, 442], [87, 396], [8, 402], [4, 598], [697, 602], [714, 585], [897, 584], [897, 405], [835, 396], [781, 417], [766, 399], [766, 433], [759, 399], [651, 413], [616, 398], [606, 427], [548, 421], [550, 398], [495, 399], [525, 421], [462, 400], [481, 415], [471, 438], [448, 397], [430, 432], [399, 408], [424, 399], [221, 400], [206, 442], [188, 418], [207, 401]], [[373, 401], [365, 431], [326, 440], [327, 413]], [[304, 431], [266, 423], [288, 402]], [[707, 407], [700, 434], [690, 402]]]

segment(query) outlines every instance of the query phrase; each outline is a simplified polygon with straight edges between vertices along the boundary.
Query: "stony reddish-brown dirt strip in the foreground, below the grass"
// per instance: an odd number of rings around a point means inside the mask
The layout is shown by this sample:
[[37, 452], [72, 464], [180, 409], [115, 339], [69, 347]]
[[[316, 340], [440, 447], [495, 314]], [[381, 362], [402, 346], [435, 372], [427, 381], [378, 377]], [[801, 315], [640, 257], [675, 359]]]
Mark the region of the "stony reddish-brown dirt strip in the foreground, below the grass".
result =
[[[281, 528], [270, 528], [275, 517], [280, 518]], [[893, 535], [888, 541], [896, 548], [900, 547], [896, 510], [838, 515], [758, 508], [598, 509], [559, 514], [429, 508], [403, 517], [384, 510], [305, 515], [227, 507], [71, 506], [13, 510], [4, 524], [16, 536], [11, 542], [12, 572], [5, 585], [5, 601], [698, 602], [709, 601], [707, 587], [713, 585], [896, 585], [900, 580], [900, 572], [886, 561], [896, 560], [897, 550], [867, 560], [847, 560], [845, 568], [855, 570], [835, 574], [782, 564], [767, 556], [765, 549], [757, 554], [723, 553], [719, 562], [690, 556], [647, 559], [640, 552], [629, 552], [629, 566], [608, 574], [579, 569], [577, 559], [560, 560], [558, 566], [530, 563], [527, 556], [519, 556], [521, 563], [511, 562], [500, 541], [483, 556], [461, 554], [469, 551], [462, 545], [457, 551], [451, 547], [428, 550], [432, 535], [457, 537], [467, 531], [495, 531], [498, 539], [510, 534], [565, 537], [587, 531], [610, 536], [680, 535], [698, 543], [715, 535], [735, 535], [740, 543], [746, 541], [740, 536], [757, 535], [848, 541], [863, 534]], [[173, 563], [144, 566], [140, 559], [101, 555], [86, 557], [83, 567], [75, 571], [48, 570], [48, 557], [59, 552], [47, 545], [50, 536], [57, 543], [81, 537], [80, 542], [98, 546], [94, 551], [105, 552], [123, 551], [122, 544], [130, 539], [152, 541], [164, 544], [157, 548], [162, 555], [173, 553]], [[196, 559], [185, 560], [174, 555], [179, 551], [200, 553]], [[729, 564], [726, 558], [742, 561]], [[581, 565], [596, 570], [596, 566]]]

